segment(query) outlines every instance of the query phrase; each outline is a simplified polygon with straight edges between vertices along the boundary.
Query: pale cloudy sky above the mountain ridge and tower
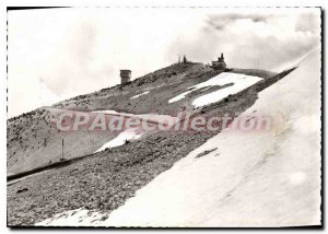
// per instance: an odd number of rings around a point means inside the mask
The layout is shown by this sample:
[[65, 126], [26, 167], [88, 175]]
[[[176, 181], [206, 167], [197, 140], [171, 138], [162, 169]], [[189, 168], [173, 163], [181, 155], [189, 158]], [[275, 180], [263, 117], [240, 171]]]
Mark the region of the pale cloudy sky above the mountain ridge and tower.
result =
[[8, 117], [177, 62], [281, 71], [320, 47], [320, 9], [69, 8], [8, 12]]

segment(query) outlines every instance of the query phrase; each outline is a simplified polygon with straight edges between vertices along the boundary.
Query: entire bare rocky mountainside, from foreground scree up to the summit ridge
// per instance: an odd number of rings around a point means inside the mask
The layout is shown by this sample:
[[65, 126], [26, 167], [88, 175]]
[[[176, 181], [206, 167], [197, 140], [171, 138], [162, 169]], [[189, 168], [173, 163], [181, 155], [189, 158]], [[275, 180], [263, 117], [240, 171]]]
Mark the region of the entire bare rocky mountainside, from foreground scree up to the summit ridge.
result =
[[[279, 74], [259, 70], [235, 70], [237, 73], [257, 74], [262, 80], [220, 102], [195, 108], [191, 105], [195, 98], [222, 87], [191, 92], [172, 104], [168, 104], [168, 100], [219, 72], [200, 63], [173, 65], [122, 87], [115, 86], [78, 96], [51, 108], [83, 112], [112, 109], [172, 116], [183, 107], [194, 114], [207, 116], [242, 113], [256, 102], [259, 91], [292, 70]], [[147, 91], [147, 95], [131, 98]], [[51, 108], [44, 107], [8, 120], [8, 173], [19, 173], [49, 164], [50, 161], [59, 161], [63, 136], [69, 157], [90, 156], [12, 182], [8, 186], [9, 225], [32, 225], [65, 210], [79, 208], [108, 213], [214, 134], [156, 131], [144, 134], [138, 141], [94, 153], [108, 141], [106, 132], [95, 134], [86, 129], [70, 134], [58, 132], [49, 124], [54, 115]], [[109, 140], [116, 136], [110, 136]]]

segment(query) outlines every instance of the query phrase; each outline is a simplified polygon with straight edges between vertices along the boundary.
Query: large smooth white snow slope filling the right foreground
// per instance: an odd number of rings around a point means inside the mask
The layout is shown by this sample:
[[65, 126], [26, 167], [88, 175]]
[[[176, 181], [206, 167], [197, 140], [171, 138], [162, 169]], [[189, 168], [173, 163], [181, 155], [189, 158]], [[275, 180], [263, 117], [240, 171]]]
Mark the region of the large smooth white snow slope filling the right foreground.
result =
[[[224, 130], [98, 225], [320, 224], [319, 91], [320, 54], [315, 51], [294, 72], [259, 93], [243, 114], [271, 116], [269, 131]], [[196, 159], [212, 149], [216, 150]]]

